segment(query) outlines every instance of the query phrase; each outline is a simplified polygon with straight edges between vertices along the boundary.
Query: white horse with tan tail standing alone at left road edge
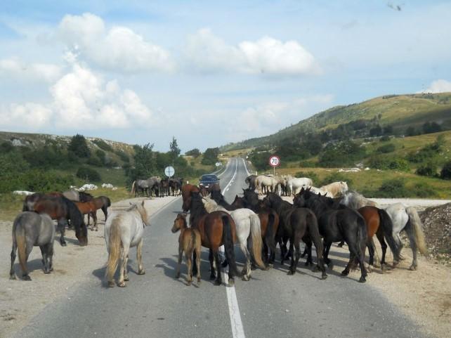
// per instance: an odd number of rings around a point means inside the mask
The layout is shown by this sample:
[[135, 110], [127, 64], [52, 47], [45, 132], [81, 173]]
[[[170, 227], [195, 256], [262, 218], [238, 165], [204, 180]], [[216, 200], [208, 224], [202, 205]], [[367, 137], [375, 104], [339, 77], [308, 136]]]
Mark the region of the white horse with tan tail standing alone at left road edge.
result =
[[150, 226], [150, 219], [144, 208], [144, 201], [140, 204], [131, 204], [126, 210], [113, 211], [105, 223], [105, 242], [107, 244], [108, 262], [107, 285], [114, 287], [113, 276], [115, 275], [119, 256], [121, 266], [119, 268], [119, 281], [117, 285], [124, 287], [129, 280], [127, 274], [127, 262], [129, 261], [129, 250], [136, 248], [136, 259], [138, 260], [138, 275], [144, 275], [142, 251], [144, 227]]

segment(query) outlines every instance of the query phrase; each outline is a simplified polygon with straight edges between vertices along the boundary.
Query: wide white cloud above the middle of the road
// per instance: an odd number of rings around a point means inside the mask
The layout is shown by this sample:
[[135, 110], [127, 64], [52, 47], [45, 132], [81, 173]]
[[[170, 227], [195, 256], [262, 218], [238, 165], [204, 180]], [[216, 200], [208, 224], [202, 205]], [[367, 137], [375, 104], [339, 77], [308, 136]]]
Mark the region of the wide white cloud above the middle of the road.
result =
[[198, 70], [230, 70], [251, 74], [318, 74], [320, 66], [299, 42], [282, 42], [271, 37], [242, 41], [231, 46], [202, 29], [188, 37], [185, 57]]

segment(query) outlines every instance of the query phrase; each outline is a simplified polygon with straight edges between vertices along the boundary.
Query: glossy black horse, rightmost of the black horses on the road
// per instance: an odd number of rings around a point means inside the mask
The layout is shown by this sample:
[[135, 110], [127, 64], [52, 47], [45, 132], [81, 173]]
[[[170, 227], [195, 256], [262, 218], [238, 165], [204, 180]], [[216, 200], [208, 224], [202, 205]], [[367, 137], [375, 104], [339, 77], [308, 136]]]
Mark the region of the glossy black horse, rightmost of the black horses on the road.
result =
[[344, 240], [348, 245], [350, 257], [348, 265], [341, 274], [348, 275], [353, 260], [357, 259], [361, 272], [359, 282], [366, 282], [367, 271], [363, 260], [367, 242], [367, 225], [362, 215], [332, 198], [315, 195], [310, 190], [304, 189], [294, 197], [294, 204], [297, 207], [311, 209], [317, 216], [320, 234], [324, 240], [325, 263], [329, 267], [332, 266], [332, 261], [329, 259], [332, 242]]

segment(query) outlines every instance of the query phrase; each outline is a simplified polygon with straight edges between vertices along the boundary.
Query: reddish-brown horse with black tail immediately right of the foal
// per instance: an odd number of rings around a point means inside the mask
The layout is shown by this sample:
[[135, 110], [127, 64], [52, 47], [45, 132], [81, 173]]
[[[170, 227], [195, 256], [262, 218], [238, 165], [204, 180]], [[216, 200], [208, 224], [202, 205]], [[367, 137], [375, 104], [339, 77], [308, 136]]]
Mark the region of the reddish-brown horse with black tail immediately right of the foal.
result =
[[[197, 188], [197, 187], [196, 187]], [[214, 285], [221, 285], [221, 264], [219, 262], [219, 247], [225, 247], [225, 259], [228, 261], [228, 280], [229, 284], [235, 283], [234, 275], [240, 276], [237, 271], [235, 261], [235, 252], [233, 243], [236, 241], [236, 228], [230, 214], [226, 212], [208, 213], [204, 208], [202, 196], [199, 191], [190, 193], [190, 224], [200, 232], [202, 247], [209, 248], [210, 261], [210, 279]], [[215, 275], [214, 261], [216, 263], [217, 273]], [[197, 271], [196, 271], [197, 273]]]

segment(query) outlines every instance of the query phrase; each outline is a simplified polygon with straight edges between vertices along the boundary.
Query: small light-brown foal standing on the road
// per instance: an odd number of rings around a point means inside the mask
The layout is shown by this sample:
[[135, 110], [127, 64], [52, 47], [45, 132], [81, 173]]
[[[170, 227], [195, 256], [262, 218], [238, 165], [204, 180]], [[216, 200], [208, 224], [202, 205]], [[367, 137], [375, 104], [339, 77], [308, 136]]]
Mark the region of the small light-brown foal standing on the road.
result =
[[192, 256], [196, 255], [197, 284], [200, 283], [200, 250], [202, 247], [200, 232], [195, 228], [188, 228], [186, 224], [186, 214], [177, 214], [174, 220], [174, 226], [171, 231], [176, 233], [180, 230], [178, 236], [178, 264], [176, 278], [180, 277], [180, 266], [182, 264], [182, 255], [185, 252], [186, 266], [188, 269], [188, 285], [192, 282]]

